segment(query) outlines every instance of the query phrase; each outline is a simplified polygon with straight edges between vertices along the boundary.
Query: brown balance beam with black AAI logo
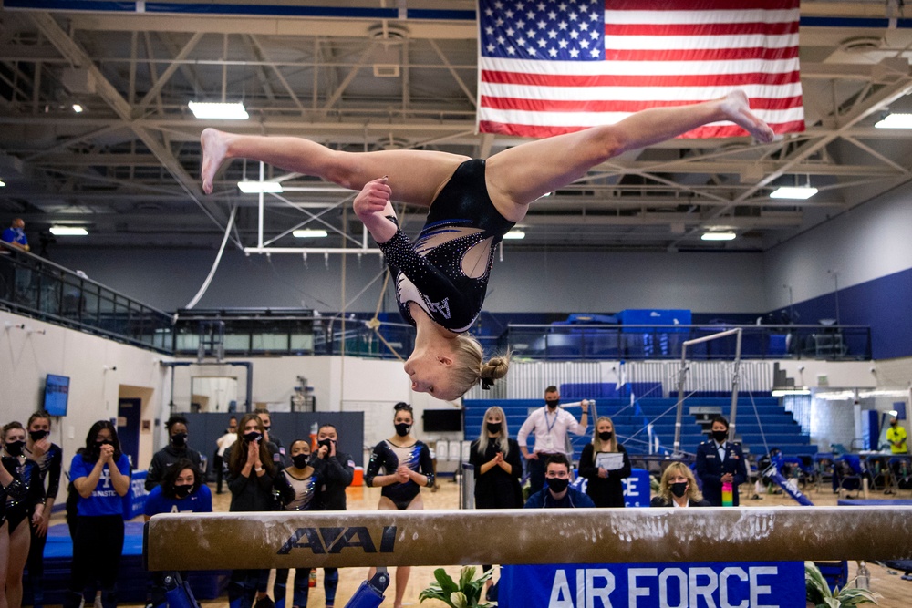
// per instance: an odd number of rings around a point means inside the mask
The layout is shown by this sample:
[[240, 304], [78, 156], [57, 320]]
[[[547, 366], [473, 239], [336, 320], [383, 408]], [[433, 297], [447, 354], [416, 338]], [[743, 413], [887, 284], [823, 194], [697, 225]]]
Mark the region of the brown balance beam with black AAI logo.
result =
[[149, 570], [912, 559], [912, 507], [156, 515]]

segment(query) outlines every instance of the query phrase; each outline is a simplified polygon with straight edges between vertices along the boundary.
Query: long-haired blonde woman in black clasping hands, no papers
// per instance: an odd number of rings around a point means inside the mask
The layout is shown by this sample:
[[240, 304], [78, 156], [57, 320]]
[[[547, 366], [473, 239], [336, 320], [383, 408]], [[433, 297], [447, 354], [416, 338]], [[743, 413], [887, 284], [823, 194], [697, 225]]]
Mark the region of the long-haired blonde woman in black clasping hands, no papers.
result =
[[[488, 407], [484, 412], [482, 431], [472, 441], [469, 463], [475, 469], [475, 509], [521, 509], [523, 457], [519, 443], [510, 438], [507, 417], [501, 407]], [[483, 564], [483, 572], [491, 570]], [[486, 582], [490, 588], [491, 579]]]

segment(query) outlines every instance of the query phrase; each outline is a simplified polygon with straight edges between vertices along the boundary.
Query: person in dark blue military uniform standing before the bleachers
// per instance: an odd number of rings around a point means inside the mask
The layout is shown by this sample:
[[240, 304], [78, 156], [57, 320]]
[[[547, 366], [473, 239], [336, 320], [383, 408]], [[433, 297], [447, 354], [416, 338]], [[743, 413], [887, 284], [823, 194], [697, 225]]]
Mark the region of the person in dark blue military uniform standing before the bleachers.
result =
[[712, 438], [697, 446], [697, 477], [703, 484], [703, 498], [713, 507], [722, 506], [722, 484], [731, 483], [731, 502], [738, 506], [738, 486], [747, 480], [741, 446], [731, 443], [729, 421], [712, 420]]

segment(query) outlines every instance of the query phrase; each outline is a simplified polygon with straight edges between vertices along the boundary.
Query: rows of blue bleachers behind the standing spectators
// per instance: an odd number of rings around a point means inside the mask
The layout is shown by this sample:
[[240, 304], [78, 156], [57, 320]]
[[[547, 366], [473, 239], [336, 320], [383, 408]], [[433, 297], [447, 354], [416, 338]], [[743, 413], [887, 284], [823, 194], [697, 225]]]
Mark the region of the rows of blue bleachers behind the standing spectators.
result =
[[[637, 399], [634, 407], [631, 407], [629, 397], [602, 397], [603, 394], [612, 392], [604, 385], [585, 385], [567, 390], [568, 388], [570, 387], [561, 386], [565, 402], [576, 401], [582, 395], [596, 399], [597, 415], [612, 418], [617, 437], [630, 454], [648, 453], [648, 434], [644, 428], [647, 422], [652, 423], [653, 436], [658, 437], [661, 447], [668, 450], [673, 448], [676, 399], [642, 397]], [[648, 392], [644, 386], [637, 388], [640, 390], [635, 390], [635, 394]], [[617, 395], [616, 389], [614, 394]], [[488, 407], [503, 407], [510, 435], [515, 438], [529, 410], [543, 405], [542, 399], [467, 399], [464, 401], [465, 438], [472, 440], [478, 437], [484, 412]], [[712, 407], [720, 411], [722, 416], [730, 417], [731, 397], [690, 397], [685, 402], [684, 415], [681, 419], [680, 448], [692, 453], [707, 436], [697, 418], [689, 414], [690, 407]], [[579, 410], [571, 411], [578, 419]], [[594, 419], [591, 414], [590, 410], [590, 431]], [[762, 431], [758, 417], [762, 420]], [[792, 414], [785, 411], [776, 397], [739, 397], [736, 432], [745, 451], [756, 456], [765, 454], [767, 447], [779, 448], [785, 456], [813, 456], [817, 452], [817, 447], [811, 445], [810, 437], [802, 433]], [[591, 435], [571, 437], [575, 458], [578, 458], [586, 443], [591, 441]]]

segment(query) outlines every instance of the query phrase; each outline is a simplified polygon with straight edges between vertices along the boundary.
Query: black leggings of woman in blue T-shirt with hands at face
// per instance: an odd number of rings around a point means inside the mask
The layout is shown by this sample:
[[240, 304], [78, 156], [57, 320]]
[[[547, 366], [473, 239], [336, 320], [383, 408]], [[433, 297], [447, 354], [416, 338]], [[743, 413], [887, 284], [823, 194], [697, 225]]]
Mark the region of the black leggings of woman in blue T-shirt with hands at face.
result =
[[[96, 581], [102, 592], [117, 587], [120, 554], [123, 552], [123, 518], [119, 515], [79, 516], [73, 539], [72, 593], [81, 593], [89, 605], [95, 602]], [[106, 608], [108, 608], [106, 606]]]

